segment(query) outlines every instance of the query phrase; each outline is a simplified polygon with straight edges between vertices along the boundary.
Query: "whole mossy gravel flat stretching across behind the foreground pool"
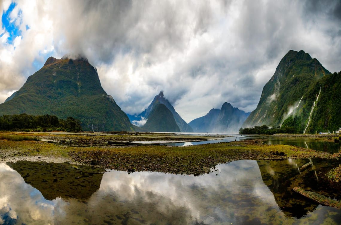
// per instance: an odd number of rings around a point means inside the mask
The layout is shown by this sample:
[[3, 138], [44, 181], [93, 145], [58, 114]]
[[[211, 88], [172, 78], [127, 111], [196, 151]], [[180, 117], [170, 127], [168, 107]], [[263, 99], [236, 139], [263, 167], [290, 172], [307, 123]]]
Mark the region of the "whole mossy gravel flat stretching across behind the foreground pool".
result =
[[[32, 135], [32, 134], [13, 134]], [[47, 141], [0, 140], [0, 161], [65, 161], [95, 165], [120, 171], [157, 171], [174, 174], [200, 175], [213, 172], [217, 164], [241, 159], [276, 160], [287, 158], [338, 159], [339, 153], [314, 151], [288, 145], [265, 145], [265, 140], [244, 140], [194, 146], [112, 146], [108, 141], [199, 140], [196, 137], [148, 133], [125, 134], [49, 134], [40, 135]]]

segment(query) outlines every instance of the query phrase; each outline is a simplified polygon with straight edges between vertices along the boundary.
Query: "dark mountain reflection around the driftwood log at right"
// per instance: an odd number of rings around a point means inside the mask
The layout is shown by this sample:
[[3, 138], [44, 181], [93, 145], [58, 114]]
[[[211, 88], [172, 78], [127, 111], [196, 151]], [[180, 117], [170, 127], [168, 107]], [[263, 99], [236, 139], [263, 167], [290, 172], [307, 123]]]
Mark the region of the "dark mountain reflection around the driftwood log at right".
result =
[[324, 174], [338, 166], [339, 162], [313, 159], [311, 165], [304, 170], [300, 169], [308, 162], [309, 159], [257, 160], [264, 183], [273, 193], [278, 207], [288, 217], [301, 218], [318, 206], [318, 203], [294, 192], [294, 187], [318, 192], [330, 198], [341, 198], [341, 186], [335, 187], [328, 180], [323, 179]]

